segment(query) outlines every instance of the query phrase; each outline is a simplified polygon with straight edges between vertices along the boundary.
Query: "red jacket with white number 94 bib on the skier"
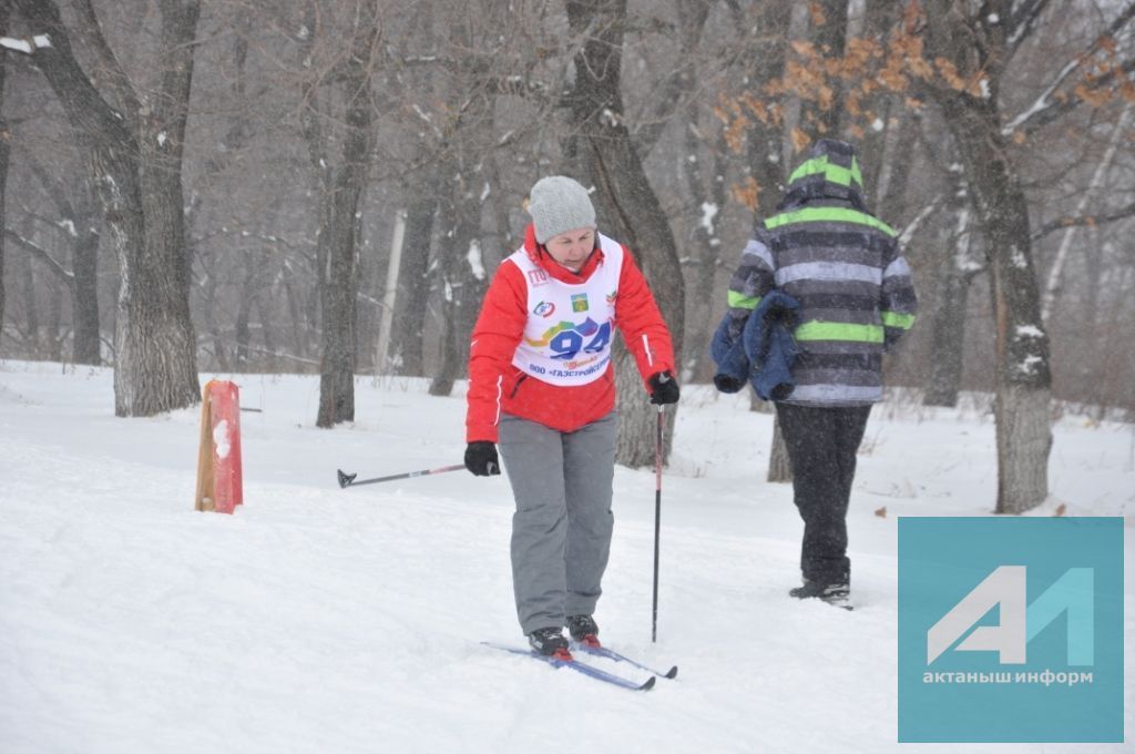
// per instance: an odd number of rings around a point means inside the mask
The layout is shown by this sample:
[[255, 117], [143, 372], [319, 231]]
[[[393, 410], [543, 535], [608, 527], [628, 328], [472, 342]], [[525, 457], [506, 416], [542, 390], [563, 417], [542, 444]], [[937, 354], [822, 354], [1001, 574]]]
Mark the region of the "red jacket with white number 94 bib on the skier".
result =
[[596, 234], [578, 274], [528, 227], [501, 262], [469, 349], [465, 441], [497, 441], [508, 413], [574, 432], [615, 408], [611, 336], [617, 327], [644, 383], [674, 371], [674, 349], [650, 288], [627, 249]]

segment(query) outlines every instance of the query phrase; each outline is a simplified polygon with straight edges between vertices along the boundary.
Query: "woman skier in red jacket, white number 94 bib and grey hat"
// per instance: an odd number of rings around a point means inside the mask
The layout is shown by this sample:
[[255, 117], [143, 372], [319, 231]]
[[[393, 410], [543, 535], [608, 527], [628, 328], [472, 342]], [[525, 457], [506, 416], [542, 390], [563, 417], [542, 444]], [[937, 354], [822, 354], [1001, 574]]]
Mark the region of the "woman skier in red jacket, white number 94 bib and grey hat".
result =
[[529, 192], [524, 244], [501, 262], [469, 349], [465, 467], [508, 471], [516, 615], [532, 648], [596, 643], [611, 550], [619, 329], [650, 402], [676, 403], [670, 330], [630, 252], [596, 228], [587, 188], [548, 176]]

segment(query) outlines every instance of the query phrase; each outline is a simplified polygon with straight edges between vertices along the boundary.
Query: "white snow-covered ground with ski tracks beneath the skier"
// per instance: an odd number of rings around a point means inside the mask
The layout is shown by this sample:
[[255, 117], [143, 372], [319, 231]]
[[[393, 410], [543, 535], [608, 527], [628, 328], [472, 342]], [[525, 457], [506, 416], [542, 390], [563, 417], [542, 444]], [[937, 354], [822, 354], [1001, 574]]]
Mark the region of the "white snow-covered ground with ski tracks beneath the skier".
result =
[[[801, 525], [790, 487], [763, 481], [772, 418], [688, 388], [663, 480], [657, 644], [654, 475], [615, 475], [603, 637], [681, 668], [636, 694], [480, 646], [522, 643], [505, 479], [338, 488], [336, 468], [460, 463], [461, 395], [360, 378], [358, 421], [321, 430], [318, 378], [235, 379], [262, 410], [241, 419], [245, 505], [207, 514], [196, 409], [116, 419], [109, 370], [0, 362], [0, 752], [919, 749], [896, 743], [897, 520], [990, 513], [982, 411], [876, 408], [849, 613], [785, 596]], [[1135, 432], [1062, 419], [1050, 484], [1037, 514], [1126, 517], [1130, 737]]]

